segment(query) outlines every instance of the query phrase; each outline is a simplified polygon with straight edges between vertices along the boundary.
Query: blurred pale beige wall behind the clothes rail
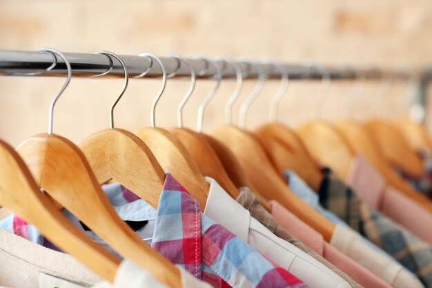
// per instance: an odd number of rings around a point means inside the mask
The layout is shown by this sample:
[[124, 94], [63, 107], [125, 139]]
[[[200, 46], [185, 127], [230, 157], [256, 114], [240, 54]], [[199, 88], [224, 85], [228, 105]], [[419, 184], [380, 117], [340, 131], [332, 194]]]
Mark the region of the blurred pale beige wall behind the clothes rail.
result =
[[[0, 0], [0, 49], [57, 48], [66, 52], [112, 50], [119, 54], [247, 55], [302, 63], [348, 62], [357, 66], [418, 67], [432, 62], [432, 2], [428, 0]], [[63, 79], [0, 78], [0, 138], [19, 144], [47, 131], [48, 105]], [[150, 124], [150, 103], [159, 81], [131, 81], [115, 111], [118, 127], [134, 131]], [[197, 106], [213, 88], [199, 81], [185, 108], [186, 126], [195, 127]], [[248, 127], [266, 121], [268, 103], [277, 90], [268, 81], [248, 115]], [[242, 97], [253, 89], [245, 84]], [[224, 122], [223, 107], [235, 87], [224, 81], [204, 119], [206, 130]], [[353, 83], [333, 83], [322, 106], [327, 119], [342, 117]], [[405, 115], [406, 83], [388, 92], [379, 81], [366, 84], [354, 117]], [[55, 111], [55, 133], [79, 142], [108, 128], [108, 109], [121, 81], [72, 79]], [[156, 124], [176, 125], [176, 107], [188, 81], [169, 80], [157, 109]], [[293, 81], [280, 106], [281, 119], [292, 126], [311, 118], [319, 83]], [[239, 100], [239, 103], [241, 101]], [[235, 111], [239, 107], [235, 106]], [[384, 103], [384, 104], [383, 104]], [[384, 106], [384, 111], [381, 107]]]

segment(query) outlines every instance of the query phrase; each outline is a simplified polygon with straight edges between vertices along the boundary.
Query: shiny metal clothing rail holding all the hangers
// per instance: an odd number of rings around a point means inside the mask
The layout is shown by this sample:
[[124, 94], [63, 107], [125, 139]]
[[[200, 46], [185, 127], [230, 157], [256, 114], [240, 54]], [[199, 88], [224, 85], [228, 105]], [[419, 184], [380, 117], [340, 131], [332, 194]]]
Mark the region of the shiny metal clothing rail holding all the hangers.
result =
[[[124, 70], [119, 61], [109, 58], [106, 55], [92, 53], [63, 53], [70, 61], [72, 67], [72, 77], [124, 77]], [[119, 55], [128, 68], [130, 77], [136, 77], [148, 70], [145, 77], [160, 77], [161, 69], [157, 63], [151, 65], [150, 59], [137, 55]], [[170, 57], [160, 57], [166, 73], [175, 73], [175, 77], [190, 76], [188, 67], [181, 61]], [[211, 58], [210, 58], [211, 59]], [[202, 59], [188, 59], [192, 64], [197, 78], [206, 79], [215, 76], [216, 70]], [[269, 78], [280, 78], [279, 71], [268, 64], [258, 64], [261, 66], [266, 76]], [[235, 78], [235, 70], [224, 61], [217, 61], [222, 69], [223, 78]], [[251, 65], [242, 61], [236, 61], [241, 70], [248, 78], [256, 78], [257, 73]], [[55, 65], [53, 65], [55, 64]], [[283, 64], [288, 72], [290, 79], [321, 79], [322, 74], [316, 66]], [[366, 79], [381, 79], [389, 77], [391, 79], [408, 79], [413, 75], [413, 71], [394, 71], [378, 69], [352, 69], [326, 67], [331, 79], [354, 79], [357, 75], [362, 75]], [[107, 73], [109, 71], [109, 73]], [[12, 51], [0, 50], [0, 76], [32, 76], [32, 77], [66, 77], [67, 69], [61, 57], [50, 52], [41, 51]]]

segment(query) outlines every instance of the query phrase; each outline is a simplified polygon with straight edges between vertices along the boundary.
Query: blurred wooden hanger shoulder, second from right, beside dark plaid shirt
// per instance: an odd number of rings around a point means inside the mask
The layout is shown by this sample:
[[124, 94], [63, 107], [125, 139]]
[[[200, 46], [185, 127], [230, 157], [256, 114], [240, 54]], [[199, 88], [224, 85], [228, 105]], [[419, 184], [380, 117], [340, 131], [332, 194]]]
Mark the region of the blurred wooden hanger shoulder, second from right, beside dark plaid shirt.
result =
[[364, 123], [372, 133], [380, 151], [391, 167], [402, 169], [413, 178], [422, 177], [423, 163], [414, 153], [397, 128], [384, 120], [375, 119]]

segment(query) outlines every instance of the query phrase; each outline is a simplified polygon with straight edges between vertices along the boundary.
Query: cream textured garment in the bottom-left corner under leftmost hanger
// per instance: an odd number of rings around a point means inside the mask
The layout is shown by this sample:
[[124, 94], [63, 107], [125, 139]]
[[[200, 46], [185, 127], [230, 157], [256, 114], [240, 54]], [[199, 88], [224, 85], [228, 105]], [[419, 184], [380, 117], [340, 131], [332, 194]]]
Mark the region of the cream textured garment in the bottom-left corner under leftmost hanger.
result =
[[0, 285], [39, 288], [40, 273], [84, 287], [101, 281], [72, 256], [47, 249], [0, 229]]

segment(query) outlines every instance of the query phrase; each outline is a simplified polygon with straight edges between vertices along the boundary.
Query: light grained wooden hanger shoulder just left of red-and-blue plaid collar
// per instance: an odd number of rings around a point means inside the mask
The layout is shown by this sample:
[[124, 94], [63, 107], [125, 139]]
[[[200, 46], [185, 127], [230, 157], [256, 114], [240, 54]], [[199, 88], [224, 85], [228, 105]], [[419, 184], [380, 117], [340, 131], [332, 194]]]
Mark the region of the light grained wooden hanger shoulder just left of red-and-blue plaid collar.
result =
[[157, 208], [165, 172], [139, 137], [112, 128], [90, 135], [79, 146], [98, 183], [115, 180]]

